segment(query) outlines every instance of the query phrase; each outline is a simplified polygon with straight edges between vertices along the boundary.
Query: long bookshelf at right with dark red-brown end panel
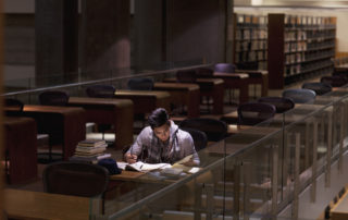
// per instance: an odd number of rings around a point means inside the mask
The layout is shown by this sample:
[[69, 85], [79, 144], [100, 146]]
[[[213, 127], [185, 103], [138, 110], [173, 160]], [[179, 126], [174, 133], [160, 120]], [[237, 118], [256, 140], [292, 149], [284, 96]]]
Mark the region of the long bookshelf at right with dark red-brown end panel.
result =
[[268, 36], [270, 88], [333, 72], [335, 17], [269, 14]]

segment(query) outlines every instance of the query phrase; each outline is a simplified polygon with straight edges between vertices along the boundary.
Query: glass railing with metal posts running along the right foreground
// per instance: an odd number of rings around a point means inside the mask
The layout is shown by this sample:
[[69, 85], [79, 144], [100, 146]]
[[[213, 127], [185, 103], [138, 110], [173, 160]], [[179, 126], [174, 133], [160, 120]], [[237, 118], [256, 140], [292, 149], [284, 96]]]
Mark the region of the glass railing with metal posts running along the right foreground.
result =
[[322, 211], [330, 204], [331, 197], [319, 201], [321, 181], [330, 187], [337, 181], [334, 164], [343, 170], [347, 103], [348, 90], [318, 96], [200, 150], [196, 173], [172, 180], [148, 172], [124, 181], [127, 191], [94, 218], [318, 219], [303, 213], [300, 194], [308, 191]]

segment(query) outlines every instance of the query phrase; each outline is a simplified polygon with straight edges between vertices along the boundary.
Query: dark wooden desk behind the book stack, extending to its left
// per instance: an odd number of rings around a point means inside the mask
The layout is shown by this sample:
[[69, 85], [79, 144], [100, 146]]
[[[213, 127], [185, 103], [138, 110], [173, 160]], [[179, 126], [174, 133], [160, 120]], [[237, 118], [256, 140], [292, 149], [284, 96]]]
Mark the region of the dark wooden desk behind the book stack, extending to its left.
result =
[[86, 138], [86, 118], [83, 108], [25, 105], [23, 112], [7, 112], [9, 115], [34, 118], [37, 133], [48, 134], [50, 145], [63, 145], [63, 159], [75, 152], [79, 140]]

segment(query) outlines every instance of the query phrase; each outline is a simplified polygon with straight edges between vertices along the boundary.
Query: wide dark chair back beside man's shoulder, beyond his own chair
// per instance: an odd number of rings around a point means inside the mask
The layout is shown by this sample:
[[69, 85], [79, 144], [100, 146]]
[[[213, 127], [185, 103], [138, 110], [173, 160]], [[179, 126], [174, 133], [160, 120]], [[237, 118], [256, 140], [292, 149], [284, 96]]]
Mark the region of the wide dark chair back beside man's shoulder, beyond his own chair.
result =
[[227, 125], [216, 119], [195, 118], [186, 119], [179, 124], [181, 129], [195, 129], [204, 132], [208, 142], [219, 142], [227, 136]]

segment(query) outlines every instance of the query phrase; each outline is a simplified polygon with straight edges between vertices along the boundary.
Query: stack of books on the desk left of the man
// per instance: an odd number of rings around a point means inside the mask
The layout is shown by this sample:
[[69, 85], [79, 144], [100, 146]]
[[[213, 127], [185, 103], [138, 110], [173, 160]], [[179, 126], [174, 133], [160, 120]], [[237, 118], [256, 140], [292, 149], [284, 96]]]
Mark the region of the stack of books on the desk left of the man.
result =
[[98, 163], [99, 160], [110, 158], [110, 154], [105, 154], [108, 144], [103, 139], [85, 139], [77, 144], [75, 155], [71, 160], [79, 160], [91, 163]]

